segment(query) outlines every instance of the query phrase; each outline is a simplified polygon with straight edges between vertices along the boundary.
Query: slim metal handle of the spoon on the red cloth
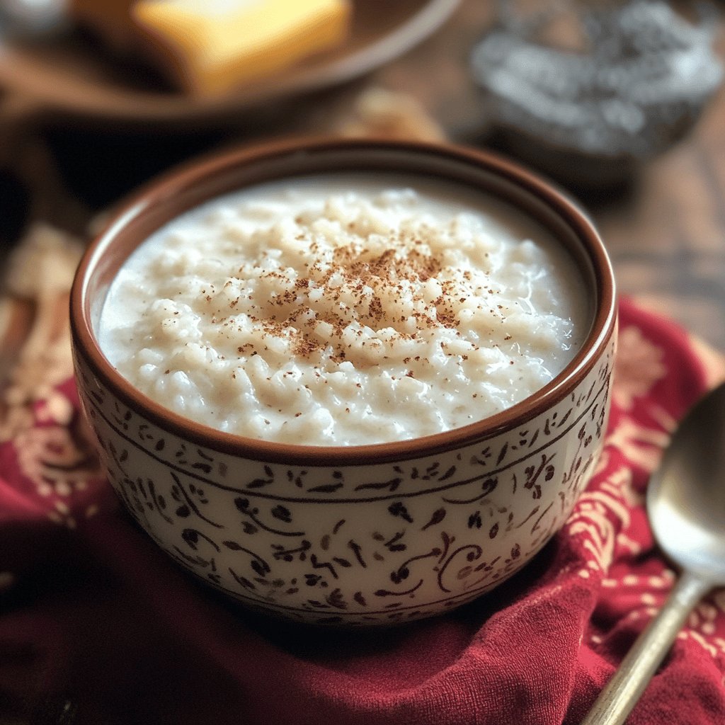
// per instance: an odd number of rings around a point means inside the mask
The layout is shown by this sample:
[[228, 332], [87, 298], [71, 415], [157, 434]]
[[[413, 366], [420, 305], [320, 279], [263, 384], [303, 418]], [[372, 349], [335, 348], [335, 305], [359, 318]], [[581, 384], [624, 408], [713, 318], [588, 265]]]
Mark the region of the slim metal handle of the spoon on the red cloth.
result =
[[581, 725], [622, 725], [663, 660], [687, 615], [712, 583], [685, 571], [658, 615], [637, 637]]

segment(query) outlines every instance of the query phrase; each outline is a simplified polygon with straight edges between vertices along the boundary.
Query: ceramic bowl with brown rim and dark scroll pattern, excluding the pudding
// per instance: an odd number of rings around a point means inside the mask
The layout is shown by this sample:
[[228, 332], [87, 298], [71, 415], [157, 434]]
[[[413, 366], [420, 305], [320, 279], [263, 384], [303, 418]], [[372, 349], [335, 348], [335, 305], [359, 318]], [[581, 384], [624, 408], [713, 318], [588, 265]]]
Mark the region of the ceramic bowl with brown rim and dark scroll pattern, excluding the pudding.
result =
[[[109, 283], [149, 233], [219, 194], [299, 174], [367, 170], [455, 180], [514, 204], [576, 260], [591, 328], [550, 384], [503, 413], [424, 438], [350, 447], [214, 431], [133, 388], [96, 339]], [[608, 418], [613, 274], [565, 196], [471, 149], [318, 140], [225, 152], [125, 206], [88, 248], [71, 294], [83, 410], [109, 481], [173, 560], [244, 605], [316, 624], [391, 624], [451, 610], [521, 569], [563, 525]]]

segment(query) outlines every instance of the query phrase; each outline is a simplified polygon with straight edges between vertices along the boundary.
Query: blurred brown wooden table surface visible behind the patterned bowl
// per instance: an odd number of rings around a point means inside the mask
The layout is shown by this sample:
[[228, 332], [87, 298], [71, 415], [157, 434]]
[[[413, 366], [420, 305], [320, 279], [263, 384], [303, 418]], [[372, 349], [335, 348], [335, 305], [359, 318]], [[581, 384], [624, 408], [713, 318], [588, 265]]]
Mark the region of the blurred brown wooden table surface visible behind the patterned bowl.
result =
[[[236, 127], [166, 133], [51, 121], [25, 129], [31, 149], [25, 162], [34, 169], [26, 185], [29, 199], [11, 191], [0, 174], [0, 213], [6, 220], [0, 241], [6, 246], [14, 241], [9, 237], [20, 229], [20, 207], [78, 229], [138, 183], [197, 153], [270, 133], [324, 129], [366, 88], [409, 94], [452, 141], [485, 146], [486, 104], [468, 62], [491, 22], [492, 3], [462, 0], [434, 36], [404, 57], [344, 88], [308, 96], [284, 114], [245, 116]], [[28, 133], [37, 139], [28, 140]], [[49, 202], [49, 188], [61, 199]], [[600, 229], [619, 291], [725, 350], [725, 91], [684, 140], [643, 164], [626, 188], [600, 194], [573, 187], [571, 193]]]

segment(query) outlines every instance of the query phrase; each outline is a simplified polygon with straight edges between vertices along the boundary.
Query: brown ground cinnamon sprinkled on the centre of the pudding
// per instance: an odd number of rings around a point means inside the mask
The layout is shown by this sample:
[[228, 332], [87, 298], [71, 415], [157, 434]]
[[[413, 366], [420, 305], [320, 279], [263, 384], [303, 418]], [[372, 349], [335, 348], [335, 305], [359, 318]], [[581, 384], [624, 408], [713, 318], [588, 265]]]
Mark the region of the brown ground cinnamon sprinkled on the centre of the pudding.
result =
[[[318, 254], [318, 259], [304, 265], [306, 276], [280, 270], [260, 276], [283, 289], [268, 300], [268, 309], [254, 306], [250, 320], [265, 336], [288, 340], [294, 355], [319, 357], [327, 351], [328, 359], [336, 363], [348, 357], [344, 336], [351, 326], [357, 337], [363, 335], [360, 326], [374, 331], [384, 328], [389, 341], [414, 340], [423, 329], [455, 329], [458, 319], [451, 302], [459, 290], [445, 276], [438, 278], [446, 271], [439, 255], [420, 236], [410, 234], [392, 233], [386, 246], [375, 252], [360, 239], [330, 251], [313, 241], [310, 252]], [[471, 276], [464, 278], [470, 281]], [[443, 294], [426, 299], [423, 290], [428, 281], [436, 281]], [[465, 299], [459, 297], [458, 302]], [[233, 299], [229, 307], [239, 302], [240, 298]], [[413, 308], [410, 314], [400, 314], [402, 305]], [[319, 333], [320, 323], [329, 326], [325, 334]], [[240, 355], [245, 351], [239, 349]]]

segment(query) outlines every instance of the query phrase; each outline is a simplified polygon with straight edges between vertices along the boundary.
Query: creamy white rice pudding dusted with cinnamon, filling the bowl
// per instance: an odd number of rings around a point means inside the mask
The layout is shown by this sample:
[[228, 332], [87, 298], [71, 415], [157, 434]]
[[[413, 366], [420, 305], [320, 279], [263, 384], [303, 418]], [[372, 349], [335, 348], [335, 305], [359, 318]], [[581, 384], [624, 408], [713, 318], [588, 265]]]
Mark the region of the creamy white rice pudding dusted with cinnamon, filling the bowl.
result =
[[148, 397], [232, 434], [348, 446], [498, 413], [589, 331], [581, 274], [493, 196], [326, 174], [221, 196], [153, 233], [99, 344]]

